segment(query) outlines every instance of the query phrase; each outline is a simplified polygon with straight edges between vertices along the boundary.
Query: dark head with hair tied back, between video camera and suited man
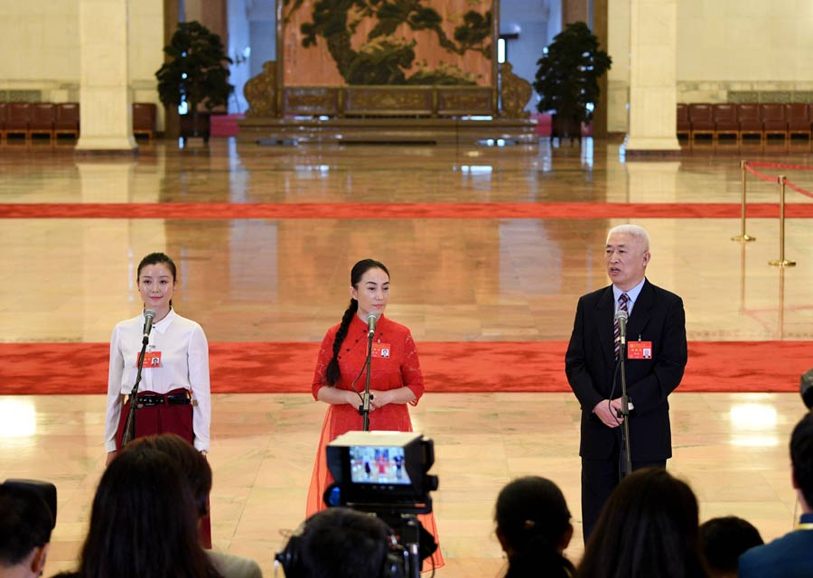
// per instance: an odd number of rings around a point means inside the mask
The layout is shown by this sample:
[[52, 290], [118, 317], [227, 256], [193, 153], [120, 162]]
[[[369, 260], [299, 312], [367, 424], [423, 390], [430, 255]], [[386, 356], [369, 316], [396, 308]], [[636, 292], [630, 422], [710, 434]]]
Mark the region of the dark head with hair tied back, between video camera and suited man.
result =
[[500, 490], [494, 513], [508, 556], [506, 578], [569, 578], [575, 567], [562, 554], [573, 537], [570, 510], [551, 480], [528, 476]]

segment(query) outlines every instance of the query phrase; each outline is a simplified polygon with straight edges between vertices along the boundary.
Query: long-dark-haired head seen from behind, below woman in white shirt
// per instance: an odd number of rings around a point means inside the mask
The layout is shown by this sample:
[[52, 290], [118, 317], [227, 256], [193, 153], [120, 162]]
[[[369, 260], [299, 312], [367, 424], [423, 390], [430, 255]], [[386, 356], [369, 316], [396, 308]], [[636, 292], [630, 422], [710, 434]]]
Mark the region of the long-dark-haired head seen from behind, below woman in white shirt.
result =
[[189, 482], [164, 452], [142, 445], [110, 461], [71, 578], [222, 578], [198, 539]]

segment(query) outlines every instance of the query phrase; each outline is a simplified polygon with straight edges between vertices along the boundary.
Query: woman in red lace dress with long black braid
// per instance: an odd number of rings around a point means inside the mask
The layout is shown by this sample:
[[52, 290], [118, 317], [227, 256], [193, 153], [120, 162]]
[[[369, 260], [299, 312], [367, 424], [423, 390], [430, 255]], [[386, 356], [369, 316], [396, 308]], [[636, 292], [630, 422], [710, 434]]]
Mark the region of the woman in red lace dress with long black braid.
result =
[[[404, 325], [390, 321], [383, 314], [388, 299], [389, 272], [386, 266], [373, 259], [364, 259], [353, 266], [350, 271], [350, 306], [341, 323], [324, 336], [313, 375], [313, 397], [328, 404], [328, 409], [308, 490], [307, 517], [326, 508], [322, 496], [333, 481], [327, 468], [325, 447], [342, 433], [362, 429], [359, 406], [367, 379], [367, 319], [370, 313], [378, 315], [378, 322], [370, 362], [369, 429], [412, 431], [407, 404], [416, 406], [424, 395], [424, 376], [412, 334]], [[437, 540], [435, 515], [418, 518]], [[432, 555], [432, 564], [435, 567], [444, 564], [440, 548]]]

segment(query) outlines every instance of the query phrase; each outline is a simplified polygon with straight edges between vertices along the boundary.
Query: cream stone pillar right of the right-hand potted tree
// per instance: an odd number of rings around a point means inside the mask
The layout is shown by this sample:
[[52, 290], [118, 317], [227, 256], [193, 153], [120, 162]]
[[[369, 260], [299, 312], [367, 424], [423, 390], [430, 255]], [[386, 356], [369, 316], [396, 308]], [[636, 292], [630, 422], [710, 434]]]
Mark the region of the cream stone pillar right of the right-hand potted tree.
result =
[[677, 0], [630, 0], [628, 155], [679, 151]]

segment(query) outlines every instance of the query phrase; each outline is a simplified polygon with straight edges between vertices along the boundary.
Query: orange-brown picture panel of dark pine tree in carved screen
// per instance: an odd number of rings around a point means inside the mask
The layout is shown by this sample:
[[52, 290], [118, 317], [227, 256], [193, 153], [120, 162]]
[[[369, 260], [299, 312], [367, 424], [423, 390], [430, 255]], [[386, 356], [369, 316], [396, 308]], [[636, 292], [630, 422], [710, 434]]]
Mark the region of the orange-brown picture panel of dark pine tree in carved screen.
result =
[[496, 85], [498, 0], [277, 0], [280, 88]]

